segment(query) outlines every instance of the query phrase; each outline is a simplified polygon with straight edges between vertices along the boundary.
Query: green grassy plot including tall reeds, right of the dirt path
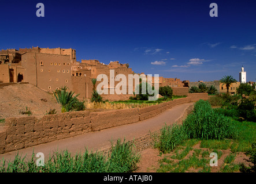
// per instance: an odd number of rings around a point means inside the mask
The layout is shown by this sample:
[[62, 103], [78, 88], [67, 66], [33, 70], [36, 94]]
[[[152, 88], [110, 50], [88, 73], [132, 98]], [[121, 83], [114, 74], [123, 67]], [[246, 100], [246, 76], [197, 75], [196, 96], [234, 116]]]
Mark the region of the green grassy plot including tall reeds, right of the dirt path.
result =
[[[157, 172], [210, 172], [209, 155], [216, 152], [220, 159], [223, 155], [221, 150], [231, 150], [231, 154], [224, 158], [219, 172], [238, 172], [248, 169], [242, 163], [233, 163], [233, 160], [237, 152], [253, 152], [256, 124], [240, 122], [232, 113], [218, 113], [207, 101], [199, 101], [183, 125], [165, 125], [152, 137], [155, 148], [164, 154]], [[200, 148], [193, 148], [199, 141]]]

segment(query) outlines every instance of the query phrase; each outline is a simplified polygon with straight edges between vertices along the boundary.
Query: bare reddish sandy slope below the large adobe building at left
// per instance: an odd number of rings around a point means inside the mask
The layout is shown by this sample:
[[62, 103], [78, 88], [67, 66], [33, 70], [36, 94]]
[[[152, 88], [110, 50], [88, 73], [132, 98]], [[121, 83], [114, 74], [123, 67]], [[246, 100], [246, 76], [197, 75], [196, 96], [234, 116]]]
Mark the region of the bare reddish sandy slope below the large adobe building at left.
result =
[[34, 85], [17, 84], [0, 88], [0, 119], [27, 116], [20, 113], [25, 111], [26, 107], [36, 117], [42, 117], [50, 109], [61, 112], [54, 95]]

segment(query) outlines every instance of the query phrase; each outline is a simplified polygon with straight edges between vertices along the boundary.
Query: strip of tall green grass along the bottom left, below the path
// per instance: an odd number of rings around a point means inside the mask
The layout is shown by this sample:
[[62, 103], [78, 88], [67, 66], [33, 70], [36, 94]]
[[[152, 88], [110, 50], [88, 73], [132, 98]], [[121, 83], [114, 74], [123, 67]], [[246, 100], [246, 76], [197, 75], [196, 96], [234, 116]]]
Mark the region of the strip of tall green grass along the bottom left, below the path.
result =
[[44, 163], [36, 166], [36, 158], [16, 155], [12, 162], [0, 161], [0, 173], [129, 173], [135, 171], [140, 155], [134, 151], [133, 142], [117, 140], [109, 155], [102, 152], [77, 153], [71, 156], [68, 150], [54, 152]]

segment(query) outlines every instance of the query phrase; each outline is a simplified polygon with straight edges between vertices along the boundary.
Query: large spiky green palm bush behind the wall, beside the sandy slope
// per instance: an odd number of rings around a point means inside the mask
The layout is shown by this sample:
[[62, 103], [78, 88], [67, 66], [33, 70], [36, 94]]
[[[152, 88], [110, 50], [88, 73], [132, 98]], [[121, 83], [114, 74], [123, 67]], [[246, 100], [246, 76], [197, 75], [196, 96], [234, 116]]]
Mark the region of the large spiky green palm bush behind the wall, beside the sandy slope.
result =
[[61, 87], [61, 89], [55, 90], [54, 91], [54, 96], [58, 102], [58, 104], [61, 105], [61, 112], [69, 112], [72, 110], [75, 110], [75, 104], [77, 103], [77, 95], [75, 95], [75, 97], [73, 97], [73, 94], [75, 92], [72, 91], [67, 91], [68, 87], [64, 86]]

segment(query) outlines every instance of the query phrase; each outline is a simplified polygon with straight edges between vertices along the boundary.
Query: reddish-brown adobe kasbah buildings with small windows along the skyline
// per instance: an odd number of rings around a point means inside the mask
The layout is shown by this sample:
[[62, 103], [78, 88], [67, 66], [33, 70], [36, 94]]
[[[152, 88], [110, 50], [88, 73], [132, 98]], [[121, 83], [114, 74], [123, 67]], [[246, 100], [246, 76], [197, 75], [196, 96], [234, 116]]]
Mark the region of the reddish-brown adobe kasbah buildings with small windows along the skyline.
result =
[[[110, 78], [110, 70], [114, 70], [114, 76]], [[92, 78], [98, 75], [107, 75], [107, 90], [125, 86], [124, 81], [116, 81], [118, 74], [124, 74], [127, 78], [128, 94], [128, 75], [135, 72], [129, 68], [129, 64], [121, 64], [118, 61], [104, 64], [98, 60], [76, 60], [75, 49], [62, 48], [20, 48], [6, 49], [0, 51], [0, 83], [9, 82], [29, 82], [40, 89], [55, 91], [56, 89], [67, 86], [69, 90], [80, 94], [81, 98], [91, 98]], [[140, 74], [138, 74], [140, 75]], [[111, 83], [110, 80], [114, 80]], [[153, 85], [157, 82], [153, 77]], [[100, 82], [96, 83], [96, 86]], [[189, 81], [180, 81], [177, 78], [164, 78], [159, 76], [160, 86], [173, 87], [177, 93], [188, 93]], [[119, 86], [120, 90], [121, 87]], [[176, 89], [175, 89], [176, 88]], [[133, 79], [133, 91], [135, 90], [135, 80]], [[183, 94], [180, 94], [183, 95]]]

